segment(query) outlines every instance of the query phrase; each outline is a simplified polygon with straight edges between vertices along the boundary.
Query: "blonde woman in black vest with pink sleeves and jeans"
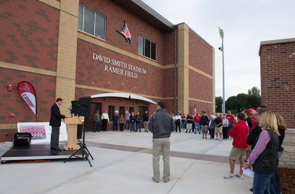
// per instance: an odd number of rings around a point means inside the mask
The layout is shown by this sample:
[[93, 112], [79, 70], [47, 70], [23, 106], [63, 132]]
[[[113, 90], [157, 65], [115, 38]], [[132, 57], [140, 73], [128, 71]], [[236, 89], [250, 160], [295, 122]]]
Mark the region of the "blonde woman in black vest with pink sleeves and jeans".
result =
[[279, 138], [277, 119], [274, 113], [266, 111], [260, 115], [262, 128], [244, 168], [253, 165], [253, 194], [270, 193], [270, 178], [275, 174], [278, 160]]

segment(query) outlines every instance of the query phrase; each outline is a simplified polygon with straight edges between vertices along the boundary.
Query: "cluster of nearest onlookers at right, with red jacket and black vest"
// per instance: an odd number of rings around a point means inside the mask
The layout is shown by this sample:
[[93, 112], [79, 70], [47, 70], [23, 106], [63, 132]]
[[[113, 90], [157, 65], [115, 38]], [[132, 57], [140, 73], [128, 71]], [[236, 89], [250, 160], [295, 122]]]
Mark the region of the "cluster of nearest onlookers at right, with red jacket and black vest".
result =
[[[282, 116], [260, 106], [253, 114], [249, 110], [238, 113], [233, 124], [233, 129], [229, 129], [229, 136], [233, 137], [230, 173], [224, 178], [244, 178], [244, 169], [252, 168], [253, 194], [280, 194], [278, 164], [287, 129]], [[235, 161], [240, 161], [237, 174], [234, 174]]]

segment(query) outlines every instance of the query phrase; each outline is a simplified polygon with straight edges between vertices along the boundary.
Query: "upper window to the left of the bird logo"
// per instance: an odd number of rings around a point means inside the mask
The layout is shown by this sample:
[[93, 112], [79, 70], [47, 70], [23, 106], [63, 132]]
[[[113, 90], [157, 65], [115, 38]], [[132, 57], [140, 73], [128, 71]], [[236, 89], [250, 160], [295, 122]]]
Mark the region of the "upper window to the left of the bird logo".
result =
[[78, 30], [105, 39], [106, 17], [79, 5]]

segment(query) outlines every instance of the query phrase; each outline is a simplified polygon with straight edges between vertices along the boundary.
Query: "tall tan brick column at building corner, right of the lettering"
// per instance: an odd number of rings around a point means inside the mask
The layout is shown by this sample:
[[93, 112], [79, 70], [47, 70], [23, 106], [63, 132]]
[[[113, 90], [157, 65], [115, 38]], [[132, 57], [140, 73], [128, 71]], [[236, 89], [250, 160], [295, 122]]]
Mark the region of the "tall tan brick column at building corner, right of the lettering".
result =
[[188, 26], [178, 25], [178, 111], [188, 113]]

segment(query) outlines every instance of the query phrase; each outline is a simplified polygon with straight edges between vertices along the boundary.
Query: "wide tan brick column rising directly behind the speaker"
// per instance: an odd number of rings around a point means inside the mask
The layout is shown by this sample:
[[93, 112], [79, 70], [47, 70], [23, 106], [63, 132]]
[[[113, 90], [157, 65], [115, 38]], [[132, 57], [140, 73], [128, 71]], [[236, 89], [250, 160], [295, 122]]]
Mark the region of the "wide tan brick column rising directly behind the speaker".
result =
[[67, 115], [75, 100], [78, 7], [79, 0], [61, 0], [55, 96], [63, 99], [61, 113]]

